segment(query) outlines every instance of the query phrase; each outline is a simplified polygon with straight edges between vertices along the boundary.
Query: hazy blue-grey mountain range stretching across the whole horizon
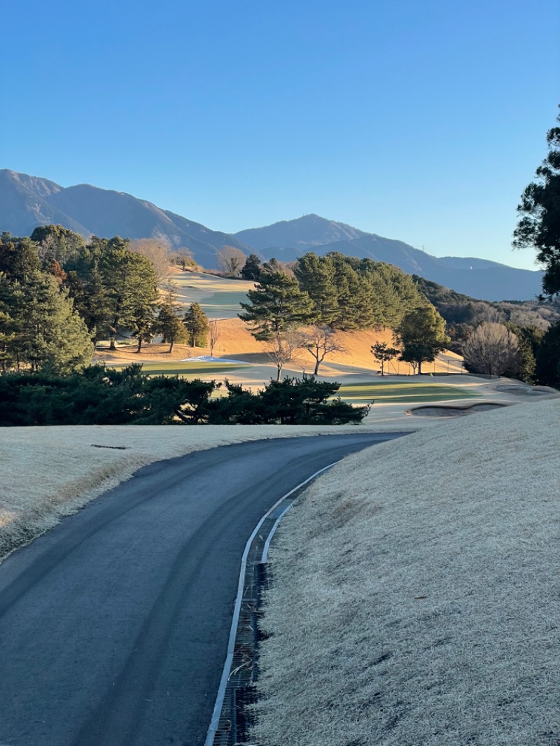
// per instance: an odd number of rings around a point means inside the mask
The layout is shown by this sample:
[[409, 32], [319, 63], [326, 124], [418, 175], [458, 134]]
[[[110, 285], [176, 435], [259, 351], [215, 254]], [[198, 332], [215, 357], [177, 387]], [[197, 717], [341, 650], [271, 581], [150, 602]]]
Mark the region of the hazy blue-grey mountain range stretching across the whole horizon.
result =
[[50, 224], [84, 236], [165, 238], [172, 246], [190, 248], [196, 261], [208, 269], [216, 266], [216, 252], [224, 245], [285, 262], [306, 251], [320, 255], [340, 251], [393, 264], [408, 274], [482, 300], [521, 301], [541, 292], [541, 271], [514, 269], [476, 257], [432, 257], [402, 241], [318, 215], [223, 233], [125, 192], [89, 184], [65, 188], [48, 179], [0, 169], [0, 231], [28, 236], [37, 225]]

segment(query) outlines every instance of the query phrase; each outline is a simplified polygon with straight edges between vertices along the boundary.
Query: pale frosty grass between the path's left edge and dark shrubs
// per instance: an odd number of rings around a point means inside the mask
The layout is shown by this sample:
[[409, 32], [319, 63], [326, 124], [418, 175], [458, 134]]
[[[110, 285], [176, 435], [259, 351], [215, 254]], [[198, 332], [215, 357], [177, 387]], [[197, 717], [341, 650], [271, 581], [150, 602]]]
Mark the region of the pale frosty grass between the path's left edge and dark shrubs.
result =
[[[382, 429], [391, 426], [360, 432]], [[154, 461], [248, 440], [355, 432], [352, 425], [1, 427], [0, 560]]]

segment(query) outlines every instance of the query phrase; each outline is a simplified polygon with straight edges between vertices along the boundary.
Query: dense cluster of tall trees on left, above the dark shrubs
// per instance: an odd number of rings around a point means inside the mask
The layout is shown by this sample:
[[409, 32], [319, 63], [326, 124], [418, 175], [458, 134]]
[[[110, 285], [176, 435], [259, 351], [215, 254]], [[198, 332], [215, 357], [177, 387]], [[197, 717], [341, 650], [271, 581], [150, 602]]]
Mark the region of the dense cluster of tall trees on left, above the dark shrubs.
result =
[[158, 293], [168, 272], [166, 246], [130, 242], [59, 226], [30, 237], [0, 238], [0, 369], [46, 369], [65, 374], [90, 363], [100, 339], [111, 349], [119, 335], [144, 342], [161, 335], [205, 346], [211, 325], [199, 304], [183, 313], [170, 288]]

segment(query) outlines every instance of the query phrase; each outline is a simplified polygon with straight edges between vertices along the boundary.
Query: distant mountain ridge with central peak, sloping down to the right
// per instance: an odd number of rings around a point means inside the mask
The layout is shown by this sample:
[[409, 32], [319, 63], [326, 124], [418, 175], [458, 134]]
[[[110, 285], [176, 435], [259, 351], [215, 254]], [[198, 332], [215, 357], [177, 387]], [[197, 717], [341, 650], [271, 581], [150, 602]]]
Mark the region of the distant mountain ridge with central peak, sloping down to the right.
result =
[[[351, 237], [352, 231], [354, 237]], [[335, 240], [321, 243], [323, 236], [337, 234], [340, 237]], [[339, 251], [350, 257], [393, 264], [409, 275], [420, 275], [485, 301], [529, 300], [542, 289], [543, 272], [540, 270], [516, 269], [476, 257], [432, 257], [402, 241], [357, 231], [317, 215], [250, 228], [235, 236], [258, 249], [267, 259], [276, 257], [293, 262], [306, 251], [321, 256]]]

